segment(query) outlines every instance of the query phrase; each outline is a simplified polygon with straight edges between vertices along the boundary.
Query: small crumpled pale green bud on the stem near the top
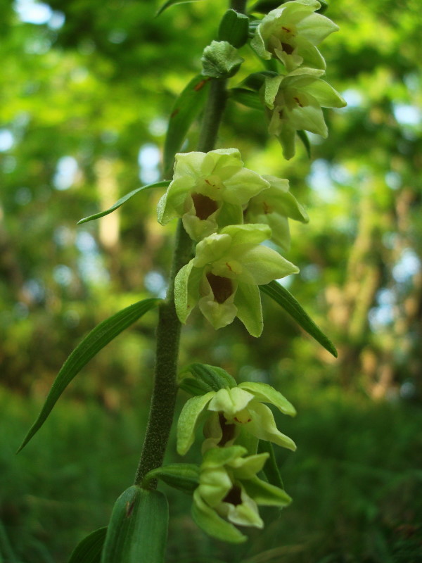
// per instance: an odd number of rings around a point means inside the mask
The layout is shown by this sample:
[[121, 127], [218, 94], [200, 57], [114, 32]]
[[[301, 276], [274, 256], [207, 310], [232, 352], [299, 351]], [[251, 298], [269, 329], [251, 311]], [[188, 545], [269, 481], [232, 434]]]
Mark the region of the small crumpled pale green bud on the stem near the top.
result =
[[212, 41], [205, 47], [200, 61], [203, 75], [212, 78], [234, 76], [245, 59], [238, 56], [238, 50], [226, 41]]

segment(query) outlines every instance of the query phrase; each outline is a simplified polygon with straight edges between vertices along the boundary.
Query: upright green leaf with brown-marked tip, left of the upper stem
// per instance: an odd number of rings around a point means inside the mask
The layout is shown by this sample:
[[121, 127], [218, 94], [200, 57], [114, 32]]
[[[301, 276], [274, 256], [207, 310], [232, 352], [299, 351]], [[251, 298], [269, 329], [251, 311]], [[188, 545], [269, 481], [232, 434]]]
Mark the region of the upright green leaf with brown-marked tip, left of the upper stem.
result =
[[171, 172], [174, 155], [180, 150], [186, 133], [207, 99], [210, 78], [197, 75], [174, 103], [164, 145], [164, 170]]

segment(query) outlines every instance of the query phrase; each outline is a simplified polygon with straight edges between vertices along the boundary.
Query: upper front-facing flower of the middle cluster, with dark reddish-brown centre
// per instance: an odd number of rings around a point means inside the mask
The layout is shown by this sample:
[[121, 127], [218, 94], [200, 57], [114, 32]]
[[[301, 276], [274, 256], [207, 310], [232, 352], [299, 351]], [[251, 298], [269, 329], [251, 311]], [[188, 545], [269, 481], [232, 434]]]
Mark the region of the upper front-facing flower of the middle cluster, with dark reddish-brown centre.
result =
[[181, 217], [186, 232], [199, 241], [227, 224], [241, 224], [244, 205], [268, 187], [243, 167], [237, 148], [178, 153], [172, 182], [158, 203], [158, 221]]

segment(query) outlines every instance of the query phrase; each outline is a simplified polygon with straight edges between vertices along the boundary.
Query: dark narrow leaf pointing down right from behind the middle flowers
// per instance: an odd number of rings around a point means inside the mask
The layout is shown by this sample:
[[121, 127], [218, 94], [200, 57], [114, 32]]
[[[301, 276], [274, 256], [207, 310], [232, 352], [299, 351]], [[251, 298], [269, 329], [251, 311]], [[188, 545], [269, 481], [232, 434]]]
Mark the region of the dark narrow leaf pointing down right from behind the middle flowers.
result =
[[270, 281], [269, 284], [260, 286], [260, 290], [262, 293], [267, 293], [276, 303], [279, 303], [302, 329], [307, 331], [321, 346], [324, 346], [329, 353], [333, 354], [334, 358], [337, 358], [337, 350], [331, 340], [316, 326], [311, 317], [285, 287], [277, 281]]

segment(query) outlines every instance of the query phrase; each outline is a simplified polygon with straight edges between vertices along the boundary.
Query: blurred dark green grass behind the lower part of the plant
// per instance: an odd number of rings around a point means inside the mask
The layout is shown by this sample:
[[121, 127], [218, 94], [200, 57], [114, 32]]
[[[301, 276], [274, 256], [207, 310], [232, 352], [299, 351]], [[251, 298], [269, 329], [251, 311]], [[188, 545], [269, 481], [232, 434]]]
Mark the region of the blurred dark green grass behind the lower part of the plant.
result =
[[[233, 547], [207, 538], [191, 521], [190, 498], [165, 488], [168, 562], [421, 562], [421, 409], [329, 390], [303, 405], [289, 398], [298, 417], [279, 426], [298, 451], [278, 453], [293, 504], [267, 510], [264, 531]], [[146, 407], [116, 413], [63, 400], [18, 456], [39, 405], [2, 391], [0, 407], [0, 562], [65, 563], [132, 484]]]

